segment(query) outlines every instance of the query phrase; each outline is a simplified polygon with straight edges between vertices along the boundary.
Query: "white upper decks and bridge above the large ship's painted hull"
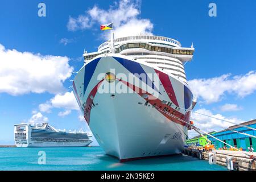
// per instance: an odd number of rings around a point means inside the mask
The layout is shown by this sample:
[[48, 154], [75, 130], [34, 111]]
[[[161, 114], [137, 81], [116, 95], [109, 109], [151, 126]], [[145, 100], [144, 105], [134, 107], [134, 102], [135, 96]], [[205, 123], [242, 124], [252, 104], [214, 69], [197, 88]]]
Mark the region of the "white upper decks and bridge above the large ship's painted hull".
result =
[[[84, 53], [85, 61], [110, 52], [110, 40], [102, 43], [97, 52]], [[134, 59], [143, 60], [169, 72], [176, 78], [187, 82], [184, 63], [191, 61], [195, 48], [181, 47], [175, 39], [164, 36], [138, 35], [114, 39], [115, 53], [133, 56]]]

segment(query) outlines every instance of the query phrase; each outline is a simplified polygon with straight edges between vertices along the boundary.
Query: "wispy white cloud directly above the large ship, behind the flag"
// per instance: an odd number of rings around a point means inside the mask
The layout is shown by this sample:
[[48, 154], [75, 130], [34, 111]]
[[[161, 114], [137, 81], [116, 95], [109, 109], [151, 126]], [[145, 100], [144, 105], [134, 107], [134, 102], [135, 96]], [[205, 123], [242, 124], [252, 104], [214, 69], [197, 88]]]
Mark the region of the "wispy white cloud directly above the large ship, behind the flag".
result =
[[[121, 0], [110, 6], [108, 10], [94, 6], [78, 18], [69, 17], [67, 24], [69, 31], [85, 30], [92, 28], [93, 24], [106, 24], [114, 22], [115, 38], [130, 35], [147, 34], [152, 35], [153, 24], [149, 19], [139, 18], [140, 1]], [[104, 32], [104, 39], [109, 39], [108, 31]]]

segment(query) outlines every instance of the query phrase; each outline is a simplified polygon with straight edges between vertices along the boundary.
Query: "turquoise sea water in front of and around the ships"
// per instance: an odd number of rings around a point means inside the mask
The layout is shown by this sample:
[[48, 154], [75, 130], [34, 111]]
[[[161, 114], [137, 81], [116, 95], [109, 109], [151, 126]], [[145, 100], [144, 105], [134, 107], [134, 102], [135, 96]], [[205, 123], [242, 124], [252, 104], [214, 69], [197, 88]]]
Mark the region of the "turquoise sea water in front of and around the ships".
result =
[[[46, 164], [38, 164], [38, 152]], [[0, 170], [226, 170], [206, 160], [175, 155], [119, 163], [101, 147], [0, 148]]]

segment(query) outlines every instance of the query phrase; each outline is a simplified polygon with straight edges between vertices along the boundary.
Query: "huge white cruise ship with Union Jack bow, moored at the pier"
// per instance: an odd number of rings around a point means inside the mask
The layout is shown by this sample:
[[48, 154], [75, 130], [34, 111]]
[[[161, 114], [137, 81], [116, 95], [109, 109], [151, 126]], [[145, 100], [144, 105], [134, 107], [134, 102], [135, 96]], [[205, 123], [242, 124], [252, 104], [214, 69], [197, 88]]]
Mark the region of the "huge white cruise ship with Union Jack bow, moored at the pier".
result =
[[179, 154], [196, 103], [184, 70], [193, 45], [163, 36], [113, 37], [84, 53], [73, 81], [94, 137], [121, 162]]

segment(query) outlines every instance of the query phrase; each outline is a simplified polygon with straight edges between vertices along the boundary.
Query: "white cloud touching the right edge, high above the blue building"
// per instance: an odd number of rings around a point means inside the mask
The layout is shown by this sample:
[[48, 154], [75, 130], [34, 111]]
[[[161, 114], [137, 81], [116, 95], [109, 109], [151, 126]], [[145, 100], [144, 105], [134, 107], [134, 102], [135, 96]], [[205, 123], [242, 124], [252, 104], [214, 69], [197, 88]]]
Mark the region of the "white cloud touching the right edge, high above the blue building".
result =
[[201, 78], [188, 81], [189, 86], [198, 98], [210, 104], [218, 102], [226, 93], [237, 94], [245, 97], [256, 90], [256, 71], [250, 71], [243, 76], [231, 76], [230, 74], [214, 78]]

